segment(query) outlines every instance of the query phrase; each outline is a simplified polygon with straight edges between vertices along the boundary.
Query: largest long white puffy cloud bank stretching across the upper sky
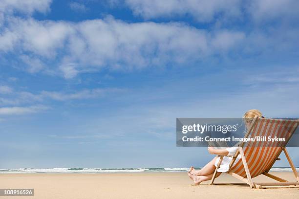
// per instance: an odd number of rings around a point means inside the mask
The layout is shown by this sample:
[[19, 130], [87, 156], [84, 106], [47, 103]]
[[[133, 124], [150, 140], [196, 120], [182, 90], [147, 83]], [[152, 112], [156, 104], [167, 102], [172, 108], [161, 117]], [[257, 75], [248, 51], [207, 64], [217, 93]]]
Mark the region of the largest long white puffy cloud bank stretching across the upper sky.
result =
[[113, 18], [78, 23], [10, 18], [9, 22], [0, 41], [14, 39], [9, 45], [0, 43], [0, 48], [26, 52], [19, 61], [29, 72], [52, 70], [65, 78], [103, 67], [131, 70], [190, 64], [220, 50], [223, 54], [233, 50], [235, 36], [244, 34], [226, 31], [221, 44], [218, 30], [210, 33], [183, 23], [127, 23]]

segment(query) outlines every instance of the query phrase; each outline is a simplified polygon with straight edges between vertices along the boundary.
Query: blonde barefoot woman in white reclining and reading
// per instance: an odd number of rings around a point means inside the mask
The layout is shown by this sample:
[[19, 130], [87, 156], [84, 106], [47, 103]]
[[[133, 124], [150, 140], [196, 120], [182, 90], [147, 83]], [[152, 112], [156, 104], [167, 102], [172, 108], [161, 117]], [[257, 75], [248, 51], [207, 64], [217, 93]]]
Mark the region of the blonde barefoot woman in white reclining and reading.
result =
[[[255, 116], [262, 117], [262, 113], [256, 109], [247, 111], [244, 115], [244, 121], [246, 124], [246, 128], [250, 127], [250, 124]], [[231, 147], [226, 149], [214, 149], [214, 147], [208, 147], [208, 151], [210, 154], [215, 155], [235, 155], [237, 147]], [[240, 155], [236, 157], [235, 163], [241, 158]], [[229, 170], [230, 162], [232, 161], [232, 157], [223, 157], [220, 168], [217, 169], [216, 177], [220, 176], [222, 172], [227, 172]], [[195, 170], [194, 167], [190, 168], [188, 172], [188, 176], [193, 180], [195, 184], [199, 184], [200, 182], [207, 181], [212, 179], [216, 166], [220, 160], [220, 157], [214, 157], [208, 164], [206, 164], [202, 169]]]

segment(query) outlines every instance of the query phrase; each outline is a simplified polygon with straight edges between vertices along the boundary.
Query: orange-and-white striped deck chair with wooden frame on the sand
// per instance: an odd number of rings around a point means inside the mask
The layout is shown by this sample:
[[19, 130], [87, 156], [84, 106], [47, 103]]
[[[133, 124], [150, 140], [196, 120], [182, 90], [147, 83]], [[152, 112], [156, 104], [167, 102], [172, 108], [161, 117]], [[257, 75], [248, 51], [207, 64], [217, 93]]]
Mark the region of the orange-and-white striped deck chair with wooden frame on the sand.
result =
[[[250, 128], [246, 132], [244, 137], [254, 136], [277, 136], [285, 137], [285, 141], [280, 143], [271, 142], [246, 142], [240, 143], [238, 149], [233, 156], [218, 155], [220, 160], [211, 179], [211, 185], [217, 185], [214, 183], [217, 175], [217, 169], [220, 167], [224, 156], [232, 157], [232, 161], [229, 166], [227, 174], [245, 182], [234, 184], [248, 184], [250, 188], [281, 188], [281, 187], [299, 187], [299, 175], [296, 171], [294, 163], [286, 150], [286, 144], [295, 132], [299, 120], [285, 120], [285, 119], [272, 119], [255, 117], [253, 119]], [[277, 160], [280, 160], [279, 155], [284, 152], [292, 171], [295, 175], [296, 182], [288, 182], [285, 179], [274, 176], [269, 173], [270, 169]], [[241, 158], [235, 162], [237, 155]], [[235, 163], [235, 164], [234, 164]], [[255, 183], [252, 178], [259, 175], [265, 175], [279, 182], [274, 183]], [[224, 183], [221, 183], [224, 184]], [[226, 183], [229, 184], [229, 183]]]

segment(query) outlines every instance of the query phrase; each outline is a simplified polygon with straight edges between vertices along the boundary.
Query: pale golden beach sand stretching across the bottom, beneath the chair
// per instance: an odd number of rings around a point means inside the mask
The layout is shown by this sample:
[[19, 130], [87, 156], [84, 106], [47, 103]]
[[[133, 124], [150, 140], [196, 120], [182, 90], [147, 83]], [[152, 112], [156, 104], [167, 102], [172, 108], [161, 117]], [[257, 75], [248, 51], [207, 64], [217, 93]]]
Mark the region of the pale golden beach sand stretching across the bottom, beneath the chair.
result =
[[[295, 181], [290, 172], [273, 174]], [[260, 176], [254, 181], [273, 180]], [[222, 174], [217, 182], [240, 181]], [[208, 183], [192, 185], [185, 172], [0, 174], [0, 188], [34, 188], [34, 197], [25, 199], [299, 199], [298, 188], [250, 189], [246, 185], [211, 186]], [[16, 197], [0, 197], [8, 198]]]

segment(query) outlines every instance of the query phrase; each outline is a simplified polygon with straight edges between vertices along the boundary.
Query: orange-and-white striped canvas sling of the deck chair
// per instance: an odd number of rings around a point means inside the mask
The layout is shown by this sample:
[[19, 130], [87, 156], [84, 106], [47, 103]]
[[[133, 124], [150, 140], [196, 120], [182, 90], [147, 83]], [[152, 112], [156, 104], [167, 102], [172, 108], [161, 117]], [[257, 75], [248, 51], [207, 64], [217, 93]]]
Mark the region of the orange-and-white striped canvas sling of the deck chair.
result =
[[[286, 146], [288, 140], [294, 133], [298, 120], [282, 120], [271, 118], [257, 118], [256, 125], [249, 137], [254, 136], [271, 136], [278, 138], [285, 137], [285, 142], [248, 142], [243, 146], [244, 156], [247, 161], [251, 177], [259, 176], [272, 166], [273, 161]], [[231, 168], [230, 172], [246, 178], [246, 173], [240, 159]]]

